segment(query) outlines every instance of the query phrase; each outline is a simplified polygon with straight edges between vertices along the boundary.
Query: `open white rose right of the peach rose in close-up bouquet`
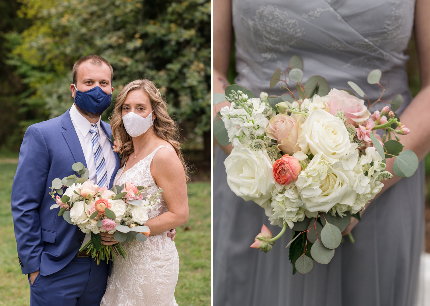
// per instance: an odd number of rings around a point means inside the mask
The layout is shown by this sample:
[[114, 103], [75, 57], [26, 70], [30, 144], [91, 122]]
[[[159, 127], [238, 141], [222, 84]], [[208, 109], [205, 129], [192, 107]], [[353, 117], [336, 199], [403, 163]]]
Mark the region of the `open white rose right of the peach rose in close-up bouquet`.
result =
[[325, 110], [314, 110], [300, 126], [298, 144], [294, 151], [324, 154], [330, 163], [346, 155], [351, 144], [349, 134], [341, 119]]

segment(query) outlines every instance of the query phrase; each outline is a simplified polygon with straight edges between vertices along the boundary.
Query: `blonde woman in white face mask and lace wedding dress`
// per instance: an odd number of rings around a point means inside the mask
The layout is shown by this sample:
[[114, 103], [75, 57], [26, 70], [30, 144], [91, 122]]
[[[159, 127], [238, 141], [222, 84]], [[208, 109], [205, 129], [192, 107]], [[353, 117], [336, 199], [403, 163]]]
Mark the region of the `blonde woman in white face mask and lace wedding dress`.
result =
[[[111, 128], [122, 154], [115, 185], [131, 182], [148, 186], [143, 196], [160, 187], [161, 200], [145, 224], [151, 234], [145, 242], [123, 243], [128, 255], [115, 257], [103, 306], [175, 306], [179, 258], [166, 232], [187, 223], [187, 168], [179, 150], [178, 128], [166, 103], [149, 80], [135, 80], [116, 99]], [[104, 238], [109, 245], [110, 237]]]

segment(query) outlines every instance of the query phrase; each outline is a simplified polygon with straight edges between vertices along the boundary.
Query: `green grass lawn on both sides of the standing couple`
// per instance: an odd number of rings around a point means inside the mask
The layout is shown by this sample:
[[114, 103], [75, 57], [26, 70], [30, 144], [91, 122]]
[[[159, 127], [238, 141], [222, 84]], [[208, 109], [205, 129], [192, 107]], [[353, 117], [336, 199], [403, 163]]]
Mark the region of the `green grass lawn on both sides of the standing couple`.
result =
[[[2, 156], [13, 158], [15, 156]], [[30, 285], [18, 265], [10, 193], [16, 164], [0, 163], [0, 306], [30, 303]], [[188, 184], [190, 216], [177, 228], [179, 279], [175, 297], [179, 306], [210, 304], [210, 183]]]

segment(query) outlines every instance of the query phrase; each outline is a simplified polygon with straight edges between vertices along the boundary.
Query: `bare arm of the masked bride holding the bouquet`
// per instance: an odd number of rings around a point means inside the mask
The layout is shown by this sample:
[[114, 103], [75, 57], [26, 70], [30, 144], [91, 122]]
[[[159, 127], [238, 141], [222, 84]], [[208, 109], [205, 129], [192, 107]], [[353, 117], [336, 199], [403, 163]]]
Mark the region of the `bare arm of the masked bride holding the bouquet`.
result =
[[157, 151], [151, 163], [151, 173], [155, 184], [163, 189], [163, 199], [169, 210], [146, 222], [152, 236], [187, 223], [188, 196], [184, 167], [172, 150], [161, 148]]

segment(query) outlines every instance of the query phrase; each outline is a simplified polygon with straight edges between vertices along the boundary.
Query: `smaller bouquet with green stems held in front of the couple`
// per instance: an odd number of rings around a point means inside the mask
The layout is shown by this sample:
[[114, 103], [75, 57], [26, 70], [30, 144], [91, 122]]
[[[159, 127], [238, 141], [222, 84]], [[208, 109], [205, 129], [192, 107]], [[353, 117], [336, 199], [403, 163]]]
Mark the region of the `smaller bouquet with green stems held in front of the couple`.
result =
[[[91, 239], [79, 251], [87, 249], [86, 254], [96, 258], [97, 263], [112, 259], [114, 254], [125, 258], [127, 252], [120, 243], [103, 245], [99, 233], [114, 233], [114, 238], [120, 242], [132, 239], [144, 242], [150, 234], [149, 228], [144, 226], [148, 209], [160, 202], [156, 198], [163, 190], [159, 188], [154, 197], [148, 195], [143, 199], [141, 192], [147, 186], [125, 183], [107, 190], [88, 179], [89, 172], [83, 163], [73, 164], [72, 169], [77, 171], [77, 175], [52, 181], [49, 195], [57, 204], [51, 205], [50, 209], [60, 208], [58, 216], [62, 215], [68, 223], [79, 226], [84, 233], [91, 233]], [[65, 191], [64, 187], [67, 187]]]

